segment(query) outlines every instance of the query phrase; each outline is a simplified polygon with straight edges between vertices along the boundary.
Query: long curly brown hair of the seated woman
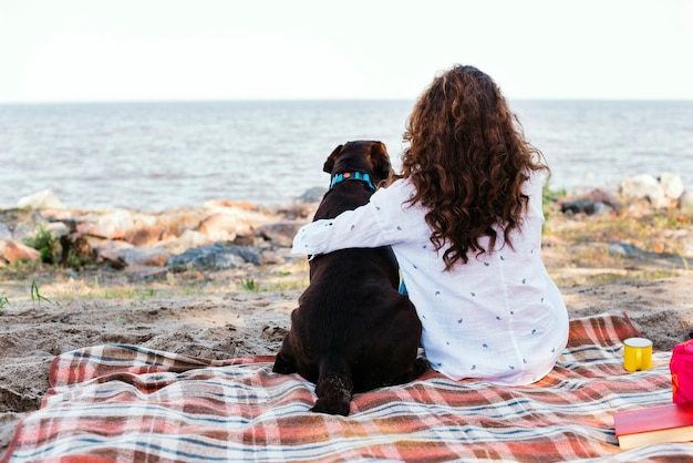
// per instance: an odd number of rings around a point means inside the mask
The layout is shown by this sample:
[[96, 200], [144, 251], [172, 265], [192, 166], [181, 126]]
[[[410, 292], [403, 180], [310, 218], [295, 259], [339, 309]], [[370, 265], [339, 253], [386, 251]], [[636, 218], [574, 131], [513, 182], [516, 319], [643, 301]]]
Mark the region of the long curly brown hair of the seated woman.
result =
[[446, 270], [466, 264], [469, 253], [493, 250], [496, 229], [513, 248], [510, 232], [521, 227], [528, 200], [523, 183], [548, 166], [487, 74], [456, 65], [436, 76], [414, 105], [404, 141], [402, 176], [416, 187], [410, 203], [428, 209], [435, 249], [449, 245]]

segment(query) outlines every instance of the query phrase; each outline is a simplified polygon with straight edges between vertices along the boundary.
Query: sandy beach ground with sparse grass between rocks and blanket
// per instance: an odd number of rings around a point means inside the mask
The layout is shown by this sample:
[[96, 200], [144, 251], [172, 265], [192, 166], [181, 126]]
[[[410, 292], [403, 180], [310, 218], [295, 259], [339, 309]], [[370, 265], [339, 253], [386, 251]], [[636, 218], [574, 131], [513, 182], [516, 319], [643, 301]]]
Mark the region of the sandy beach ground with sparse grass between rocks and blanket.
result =
[[[656, 350], [693, 335], [690, 217], [673, 212], [673, 219], [656, 220], [643, 209], [571, 216], [557, 207], [547, 215], [542, 256], [571, 318], [623, 311]], [[643, 222], [651, 226], [632, 234]], [[613, 224], [621, 224], [622, 236]], [[287, 247], [273, 253], [270, 264], [226, 270], [4, 269], [0, 453], [18, 421], [39, 408], [49, 366], [61, 352], [133, 343], [213, 359], [276, 353], [308, 284], [308, 265]]]

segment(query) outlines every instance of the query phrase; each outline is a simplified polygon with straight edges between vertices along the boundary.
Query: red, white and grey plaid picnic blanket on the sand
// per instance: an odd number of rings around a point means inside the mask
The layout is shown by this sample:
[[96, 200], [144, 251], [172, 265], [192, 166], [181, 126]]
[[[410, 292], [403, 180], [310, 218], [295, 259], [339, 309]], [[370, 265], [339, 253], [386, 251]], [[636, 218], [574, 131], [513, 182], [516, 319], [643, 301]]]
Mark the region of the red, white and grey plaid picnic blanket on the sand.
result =
[[527, 387], [435, 371], [312, 413], [313, 384], [273, 357], [215, 361], [128, 344], [56, 357], [40, 410], [2, 462], [691, 461], [693, 443], [621, 451], [613, 412], [671, 402], [669, 352], [622, 368], [623, 313], [571, 320], [555, 370]]

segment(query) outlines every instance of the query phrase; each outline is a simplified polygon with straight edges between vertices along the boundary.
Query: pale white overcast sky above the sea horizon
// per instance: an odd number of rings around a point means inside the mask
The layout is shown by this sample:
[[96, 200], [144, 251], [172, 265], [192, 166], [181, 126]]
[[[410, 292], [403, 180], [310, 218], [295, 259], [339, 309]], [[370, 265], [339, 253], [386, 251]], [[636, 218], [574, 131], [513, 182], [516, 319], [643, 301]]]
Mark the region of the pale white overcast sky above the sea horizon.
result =
[[693, 100], [693, 0], [0, 0], [0, 103]]

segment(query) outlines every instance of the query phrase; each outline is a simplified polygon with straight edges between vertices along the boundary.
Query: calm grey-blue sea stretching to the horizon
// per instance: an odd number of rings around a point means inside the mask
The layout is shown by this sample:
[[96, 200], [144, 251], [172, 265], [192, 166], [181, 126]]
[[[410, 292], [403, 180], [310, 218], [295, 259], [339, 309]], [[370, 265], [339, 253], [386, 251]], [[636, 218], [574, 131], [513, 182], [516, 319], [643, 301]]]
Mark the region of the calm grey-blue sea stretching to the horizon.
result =
[[[279, 206], [325, 188], [328, 155], [379, 140], [395, 169], [413, 101], [0, 105], [0, 208], [50, 189], [69, 208]], [[509, 101], [554, 189], [669, 172], [693, 189], [693, 101]]]

